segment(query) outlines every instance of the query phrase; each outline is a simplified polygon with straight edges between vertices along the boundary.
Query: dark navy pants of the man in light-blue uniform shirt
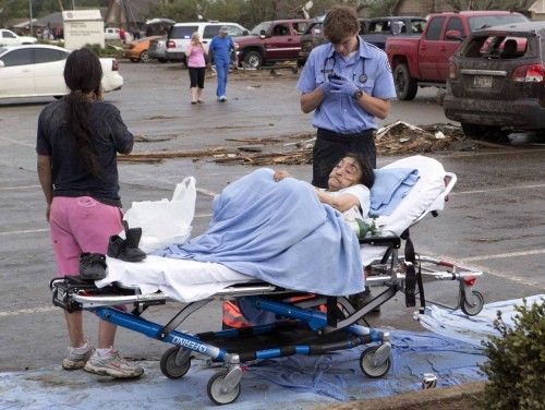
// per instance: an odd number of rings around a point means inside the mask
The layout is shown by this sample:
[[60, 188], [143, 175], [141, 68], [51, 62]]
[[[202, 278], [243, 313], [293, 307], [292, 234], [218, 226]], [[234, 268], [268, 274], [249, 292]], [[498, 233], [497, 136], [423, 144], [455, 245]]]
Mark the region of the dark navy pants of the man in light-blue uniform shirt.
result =
[[327, 188], [329, 173], [347, 153], [359, 153], [371, 168], [376, 168], [375, 130], [358, 134], [338, 134], [318, 129], [313, 150], [312, 184]]

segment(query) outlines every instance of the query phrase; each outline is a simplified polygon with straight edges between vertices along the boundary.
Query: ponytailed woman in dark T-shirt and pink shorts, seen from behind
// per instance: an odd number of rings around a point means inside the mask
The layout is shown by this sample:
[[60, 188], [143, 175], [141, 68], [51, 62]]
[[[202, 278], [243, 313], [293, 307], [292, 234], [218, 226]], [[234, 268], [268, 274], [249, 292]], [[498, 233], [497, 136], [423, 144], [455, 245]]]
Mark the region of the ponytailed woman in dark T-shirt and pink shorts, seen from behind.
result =
[[[119, 110], [102, 101], [101, 77], [95, 53], [73, 51], [64, 67], [70, 94], [46, 106], [38, 119], [37, 171], [59, 276], [77, 275], [80, 255], [106, 254], [110, 236], [123, 229], [116, 155], [129, 154], [134, 137]], [[95, 350], [85, 339], [82, 312], [64, 317], [70, 346], [63, 369], [116, 378], [143, 374], [113, 349], [116, 325], [100, 321]]]

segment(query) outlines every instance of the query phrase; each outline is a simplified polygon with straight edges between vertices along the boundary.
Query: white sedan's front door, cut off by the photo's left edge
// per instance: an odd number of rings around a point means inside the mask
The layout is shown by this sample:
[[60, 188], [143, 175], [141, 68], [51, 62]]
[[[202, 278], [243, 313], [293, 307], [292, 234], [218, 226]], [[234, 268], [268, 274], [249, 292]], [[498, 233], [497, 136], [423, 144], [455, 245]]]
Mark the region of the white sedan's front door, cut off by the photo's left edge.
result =
[[36, 94], [32, 47], [10, 50], [0, 57], [0, 97], [26, 97]]

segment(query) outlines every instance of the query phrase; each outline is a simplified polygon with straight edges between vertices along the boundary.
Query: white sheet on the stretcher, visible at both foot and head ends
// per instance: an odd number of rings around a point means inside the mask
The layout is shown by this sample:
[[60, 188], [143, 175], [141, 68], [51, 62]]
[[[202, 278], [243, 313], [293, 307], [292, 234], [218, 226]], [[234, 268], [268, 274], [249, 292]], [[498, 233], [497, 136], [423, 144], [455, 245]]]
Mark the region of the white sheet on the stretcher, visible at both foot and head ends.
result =
[[[390, 216], [380, 217], [383, 233], [401, 234], [423, 213], [443, 209], [445, 169], [437, 160], [413, 156], [397, 160], [385, 168], [416, 168], [420, 179]], [[364, 245], [364, 266], [380, 258], [386, 248]], [[143, 262], [130, 263], [107, 257], [108, 276], [97, 281], [98, 287], [119, 281], [137, 286], [143, 293], [162, 291], [168, 297], [193, 302], [214, 296], [231, 285], [255, 280], [217, 263], [174, 260], [148, 255]], [[294, 273], [296, 274], [296, 273]]]

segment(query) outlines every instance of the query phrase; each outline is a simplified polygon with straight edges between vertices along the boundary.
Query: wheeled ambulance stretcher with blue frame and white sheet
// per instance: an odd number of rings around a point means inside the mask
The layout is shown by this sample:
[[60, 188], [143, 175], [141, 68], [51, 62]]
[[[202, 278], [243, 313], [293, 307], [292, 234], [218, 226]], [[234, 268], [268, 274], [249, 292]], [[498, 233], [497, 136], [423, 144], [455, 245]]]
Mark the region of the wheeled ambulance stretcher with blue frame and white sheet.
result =
[[[482, 294], [473, 290], [482, 272], [414, 252], [410, 227], [428, 214], [437, 216], [456, 184], [456, 174], [445, 172], [443, 166], [431, 158], [407, 159], [407, 164], [400, 160], [392, 166], [416, 167], [419, 182], [391, 215], [378, 218], [383, 236], [360, 240], [366, 285], [380, 287], [376, 297], [363, 306], [353, 305], [349, 296], [293, 291], [218, 263], [154, 255], [132, 264], [108, 258], [108, 277], [97, 284], [81, 281], [77, 277], [56, 278], [50, 282], [53, 304], [68, 312], [94, 312], [101, 319], [172, 345], [160, 360], [161, 372], [169, 378], [183, 377], [195, 355], [221, 362], [223, 369], [213, 375], [207, 385], [208, 397], [217, 405], [238, 399], [244, 364], [253, 360], [324, 354], [365, 346], [360, 355], [362, 372], [367, 377], [383, 377], [391, 365], [390, 335], [362, 325], [362, 318], [372, 310], [398, 292], [405, 294], [408, 306], [414, 306], [419, 297], [423, 310], [424, 284], [431, 280], [458, 282], [455, 309], [461, 308], [469, 315], [477, 314], [484, 304]], [[401, 256], [399, 250], [403, 242], [404, 255]], [[246, 304], [268, 312], [276, 321], [201, 334], [179, 330], [191, 314], [210, 301], [235, 298], [244, 298]], [[148, 306], [167, 302], [184, 302], [168, 323], [158, 324], [143, 317]], [[116, 308], [123, 304], [132, 304], [132, 312]]]

